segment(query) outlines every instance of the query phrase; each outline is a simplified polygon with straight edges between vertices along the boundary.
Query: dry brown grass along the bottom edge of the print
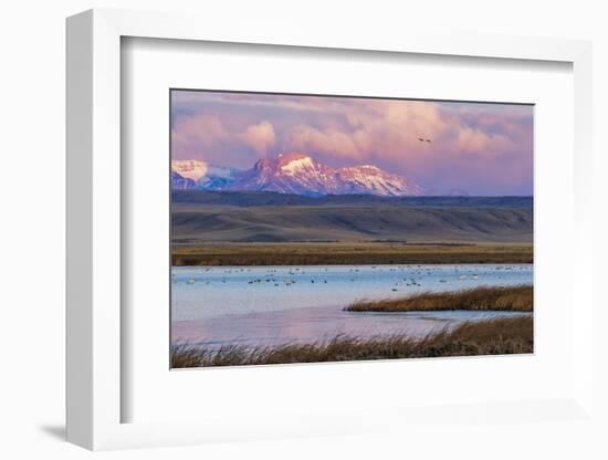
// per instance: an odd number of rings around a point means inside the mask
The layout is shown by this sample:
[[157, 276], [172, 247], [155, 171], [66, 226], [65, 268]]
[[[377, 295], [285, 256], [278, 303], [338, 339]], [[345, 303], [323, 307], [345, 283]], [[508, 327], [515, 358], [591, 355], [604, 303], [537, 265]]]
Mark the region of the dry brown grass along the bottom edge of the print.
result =
[[504, 355], [533, 352], [531, 315], [464, 323], [424, 338], [405, 335], [357, 338], [338, 335], [331, 341], [274, 347], [227, 346], [217, 351], [176, 346], [171, 368], [343, 360]]

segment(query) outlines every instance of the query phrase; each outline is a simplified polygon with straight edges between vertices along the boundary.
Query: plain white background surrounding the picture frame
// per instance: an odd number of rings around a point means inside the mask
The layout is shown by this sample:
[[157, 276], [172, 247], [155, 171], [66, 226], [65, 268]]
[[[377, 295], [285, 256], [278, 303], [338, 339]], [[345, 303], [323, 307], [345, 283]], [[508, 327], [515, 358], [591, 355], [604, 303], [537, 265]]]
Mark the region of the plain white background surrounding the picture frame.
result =
[[[210, 3], [210, 2], [209, 2]], [[80, 458], [90, 453], [61, 441], [64, 408], [64, 18], [92, 7], [192, 10], [216, 14], [230, 27], [234, 14], [264, 21], [375, 28], [476, 30], [485, 33], [595, 40], [595, 147], [597, 237], [608, 234], [606, 181], [608, 126], [608, 32], [602, 2], [434, 1], [434, 2], [231, 2], [200, 1], [22, 1], [3, 4], [0, 14], [2, 98], [2, 378], [1, 441], [4, 458]], [[283, 4], [282, 4], [283, 3]], [[604, 180], [602, 180], [604, 179]], [[597, 238], [596, 261], [606, 243]], [[558, 262], [558, 259], [556, 259]], [[601, 281], [599, 264], [596, 268]], [[600, 285], [600, 283], [597, 283]], [[599, 291], [598, 291], [599, 292]], [[606, 324], [606, 314], [596, 322]], [[596, 353], [606, 356], [606, 338]], [[605, 363], [608, 362], [605, 358]], [[608, 387], [606, 367], [596, 369]], [[447, 381], [449, 385], [449, 381]], [[606, 391], [596, 391], [607, 414]], [[606, 458], [607, 447], [585, 424], [474, 426], [441, 431], [429, 426], [416, 439], [382, 433], [348, 438], [300, 439], [219, 445], [171, 450], [104, 453], [112, 458]], [[441, 432], [439, 435], [439, 432]], [[604, 435], [608, 428], [604, 427]], [[601, 450], [600, 450], [601, 449]]]

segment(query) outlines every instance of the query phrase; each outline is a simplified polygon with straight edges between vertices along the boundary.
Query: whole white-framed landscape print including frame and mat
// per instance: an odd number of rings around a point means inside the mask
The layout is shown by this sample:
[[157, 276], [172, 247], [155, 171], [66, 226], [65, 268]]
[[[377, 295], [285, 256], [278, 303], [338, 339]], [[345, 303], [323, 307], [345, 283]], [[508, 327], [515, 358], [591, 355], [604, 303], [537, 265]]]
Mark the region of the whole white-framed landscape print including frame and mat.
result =
[[69, 440], [595, 424], [590, 55], [70, 18]]

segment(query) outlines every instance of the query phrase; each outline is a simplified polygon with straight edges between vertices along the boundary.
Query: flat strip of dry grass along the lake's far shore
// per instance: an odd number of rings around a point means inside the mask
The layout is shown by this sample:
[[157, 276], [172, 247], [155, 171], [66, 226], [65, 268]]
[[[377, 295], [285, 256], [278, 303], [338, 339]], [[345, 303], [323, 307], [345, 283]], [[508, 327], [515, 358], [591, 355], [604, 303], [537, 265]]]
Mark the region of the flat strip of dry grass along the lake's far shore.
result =
[[301, 242], [174, 244], [174, 265], [532, 263], [526, 243]]

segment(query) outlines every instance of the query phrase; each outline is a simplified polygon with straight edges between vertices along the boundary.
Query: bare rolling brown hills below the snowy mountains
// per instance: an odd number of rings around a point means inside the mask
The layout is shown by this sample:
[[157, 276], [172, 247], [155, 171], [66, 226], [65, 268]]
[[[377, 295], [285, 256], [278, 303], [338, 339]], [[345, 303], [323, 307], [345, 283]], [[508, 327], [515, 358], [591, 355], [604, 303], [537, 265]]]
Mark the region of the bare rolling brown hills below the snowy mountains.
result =
[[532, 208], [174, 203], [174, 242], [532, 242]]

